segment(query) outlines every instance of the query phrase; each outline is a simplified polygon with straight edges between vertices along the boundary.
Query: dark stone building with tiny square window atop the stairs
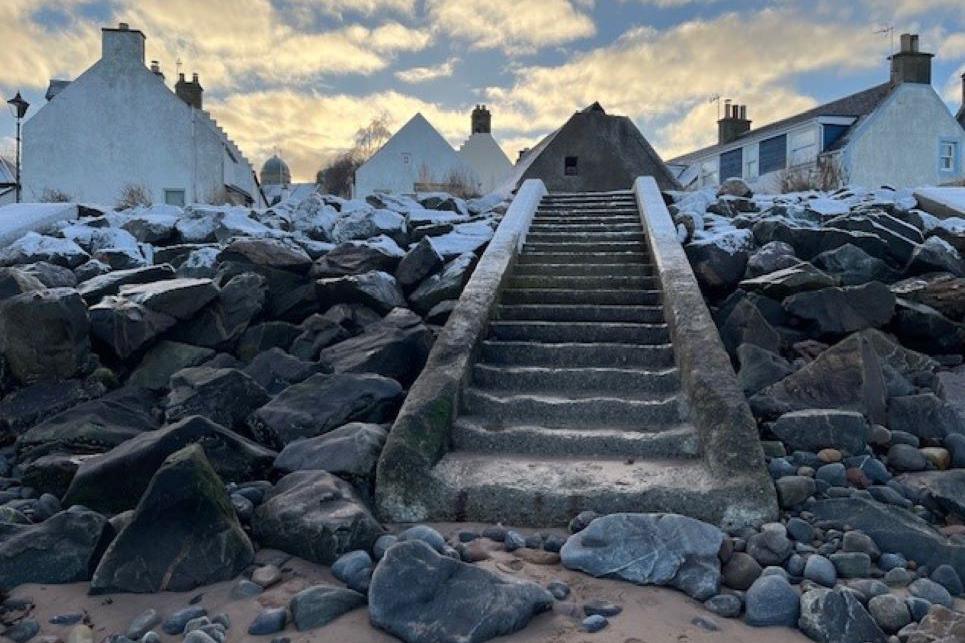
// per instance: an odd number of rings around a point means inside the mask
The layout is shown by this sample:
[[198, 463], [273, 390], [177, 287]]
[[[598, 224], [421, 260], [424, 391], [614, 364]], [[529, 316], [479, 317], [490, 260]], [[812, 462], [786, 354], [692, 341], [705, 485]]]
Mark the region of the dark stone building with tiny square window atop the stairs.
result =
[[599, 103], [523, 154], [514, 175], [517, 186], [542, 179], [550, 192], [628, 190], [638, 176], [654, 177], [663, 190], [680, 189], [633, 121], [607, 114]]

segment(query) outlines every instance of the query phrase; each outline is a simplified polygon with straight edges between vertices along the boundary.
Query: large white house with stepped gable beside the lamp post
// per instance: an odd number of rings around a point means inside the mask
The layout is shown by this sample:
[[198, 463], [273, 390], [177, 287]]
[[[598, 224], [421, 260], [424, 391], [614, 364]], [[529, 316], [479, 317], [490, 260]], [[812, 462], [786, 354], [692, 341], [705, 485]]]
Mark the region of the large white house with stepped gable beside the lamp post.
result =
[[24, 200], [110, 205], [136, 187], [153, 203], [264, 205], [251, 164], [203, 110], [197, 75], [171, 91], [144, 65], [143, 33], [121, 23], [102, 34], [101, 59], [52, 82], [24, 124]]

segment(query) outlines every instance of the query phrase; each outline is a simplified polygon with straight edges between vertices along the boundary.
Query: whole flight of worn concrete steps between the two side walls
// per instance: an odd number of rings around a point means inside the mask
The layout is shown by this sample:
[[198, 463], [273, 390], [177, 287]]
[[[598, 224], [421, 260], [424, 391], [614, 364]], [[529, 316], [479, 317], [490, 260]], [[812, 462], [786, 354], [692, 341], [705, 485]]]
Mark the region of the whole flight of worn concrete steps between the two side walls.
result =
[[551, 194], [506, 275], [433, 477], [457, 517], [561, 524], [581, 510], [718, 522], [631, 192]]

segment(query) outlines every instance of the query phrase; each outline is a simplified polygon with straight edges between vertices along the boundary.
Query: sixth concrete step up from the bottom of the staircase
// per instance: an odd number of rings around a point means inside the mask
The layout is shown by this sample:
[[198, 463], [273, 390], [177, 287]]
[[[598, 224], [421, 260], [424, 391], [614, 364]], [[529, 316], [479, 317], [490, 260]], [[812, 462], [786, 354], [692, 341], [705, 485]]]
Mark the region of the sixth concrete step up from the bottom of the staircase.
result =
[[547, 344], [617, 342], [652, 345], [670, 341], [666, 324], [627, 322], [494, 321], [489, 324], [489, 333], [493, 339]]

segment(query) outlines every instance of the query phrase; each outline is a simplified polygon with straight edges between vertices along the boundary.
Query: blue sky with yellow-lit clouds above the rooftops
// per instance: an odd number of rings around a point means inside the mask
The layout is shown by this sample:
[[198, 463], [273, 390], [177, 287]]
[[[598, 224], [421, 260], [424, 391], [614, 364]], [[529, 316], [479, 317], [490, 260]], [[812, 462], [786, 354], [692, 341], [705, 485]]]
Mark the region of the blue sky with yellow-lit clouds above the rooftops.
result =
[[[119, 21], [169, 82], [179, 59], [200, 74], [256, 167], [277, 149], [303, 180], [380, 113], [421, 111], [458, 146], [476, 103], [513, 159], [594, 100], [672, 157], [713, 142], [711, 96], [762, 125], [883, 82], [888, 26], [936, 54], [950, 109], [965, 71], [963, 0], [0, 0], [0, 93], [36, 113]], [[13, 131], [0, 113], [0, 151]]]

